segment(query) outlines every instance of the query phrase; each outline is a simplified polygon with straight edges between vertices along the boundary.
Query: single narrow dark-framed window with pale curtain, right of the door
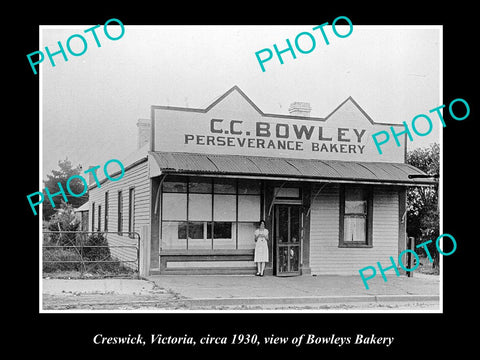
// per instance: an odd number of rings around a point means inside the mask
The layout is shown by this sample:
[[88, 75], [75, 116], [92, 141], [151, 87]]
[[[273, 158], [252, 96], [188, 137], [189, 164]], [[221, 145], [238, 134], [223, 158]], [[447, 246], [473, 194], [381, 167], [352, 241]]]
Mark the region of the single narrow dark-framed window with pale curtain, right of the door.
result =
[[372, 246], [372, 191], [368, 187], [340, 188], [340, 247]]

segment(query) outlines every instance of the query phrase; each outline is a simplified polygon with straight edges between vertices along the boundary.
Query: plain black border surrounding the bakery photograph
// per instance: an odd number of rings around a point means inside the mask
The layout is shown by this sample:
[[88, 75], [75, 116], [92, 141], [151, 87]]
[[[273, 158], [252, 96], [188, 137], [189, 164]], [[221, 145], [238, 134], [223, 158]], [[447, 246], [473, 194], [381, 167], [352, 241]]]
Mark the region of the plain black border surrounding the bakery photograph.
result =
[[[280, 352], [283, 356], [309, 352], [315, 357], [327, 353], [344, 355], [383, 354], [408, 357], [435, 356], [446, 350], [465, 350], [474, 346], [473, 317], [477, 313], [478, 239], [475, 217], [478, 213], [477, 178], [478, 135], [477, 99], [473, 89], [478, 80], [477, 35], [474, 3], [443, 2], [419, 7], [418, 1], [383, 2], [352, 5], [336, 2], [325, 4], [272, 3], [205, 3], [166, 4], [163, 2], [111, 3], [105, 8], [95, 3], [37, 3], [35, 7], [10, 10], [4, 26], [4, 71], [8, 77], [4, 97], [10, 99], [4, 108], [12, 114], [4, 119], [18, 141], [8, 145], [4, 191], [12, 199], [5, 202], [3, 256], [5, 265], [5, 319], [8, 345], [15, 353], [52, 358], [70, 356], [94, 357], [147, 354], [179, 356], [184, 353], [202, 355], [221, 353], [234, 356], [241, 353], [265, 354]], [[467, 2], [465, 2], [467, 3]], [[38, 76], [33, 75], [26, 54], [38, 49], [39, 25], [103, 24], [111, 18], [124, 25], [161, 24], [310, 24], [333, 21], [347, 16], [355, 25], [443, 25], [443, 99], [447, 107], [443, 129], [443, 233], [457, 240], [456, 252], [444, 257], [443, 314], [39, 314], [38, 312], [38, 217], [32, 216], [26, 195], [38, 188]], [[174, 51], [174, 49], [166, 49]], [[368, 51], [365, 49], [364, 51]], [[194, 56], [194, 54], [192, 55]], [[477, 60], [477, 61], [475, 61]], [[208, 79], [206, 79], [208, 81]], [[395, 84], [392, 84], [395, 86]], [[447, 111], [448, 104], [463, 98], [470, 104], [468, 119], [456, 121]], [[438, 104], [440, 105], [440, 104]], [[426, 109], [427, 110], [427, 109]], [[460, 111], [460, 110], [459, 110]], [[436, 119], [436, 117], [432, 117]], [[410, 119], [405, 119], [409, 121]], [[14, 139], [15, 140], [15, 139]], [[8, 170], [7, 170], [8, 169]], [[9, 189], [14, 189], [10, 191]], [[25, 233], [26, 231], [26, 233]], [[389, 348], [373, 345], [337, 346], [292, 345], [275, 346], [99, 346], [95, 334], [126, 336], [128, 334], [163, 334], [196, 338], [255, 333], [260, 338], [298, 336], [350, 336], [376, 334], [394, 336]], [[352, 340], [353, 341], [353, 340]], [[5, 343], [5, 342], [4, 342]]]

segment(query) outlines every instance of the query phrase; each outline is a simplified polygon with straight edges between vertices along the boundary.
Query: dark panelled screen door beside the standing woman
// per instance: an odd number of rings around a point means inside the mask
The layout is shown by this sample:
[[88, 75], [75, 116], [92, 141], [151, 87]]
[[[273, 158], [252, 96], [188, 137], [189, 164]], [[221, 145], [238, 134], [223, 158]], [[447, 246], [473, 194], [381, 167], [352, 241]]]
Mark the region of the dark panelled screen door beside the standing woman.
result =
[[300, 275], [301, 206], [277, 204], [274, 208], [274, 268], [276, 276]]

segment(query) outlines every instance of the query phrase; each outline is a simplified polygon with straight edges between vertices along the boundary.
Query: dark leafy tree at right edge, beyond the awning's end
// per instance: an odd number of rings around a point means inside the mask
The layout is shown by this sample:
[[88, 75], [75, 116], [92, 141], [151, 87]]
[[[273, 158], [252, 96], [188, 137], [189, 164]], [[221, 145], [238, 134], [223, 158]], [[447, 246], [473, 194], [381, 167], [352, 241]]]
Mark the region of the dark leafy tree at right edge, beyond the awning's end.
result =
[[[429, 175], [440, 173], [440, 146], [431, 144], [428, 148], [418, 148], [407, 153], [407, 163]], [[419, 186], [407, 191], [407, 234], [415, 238], [417, 245], [432, 240], [427, 245], [433, 258], [433, 267], [438, 267], [439, 253], [435, 240], [440, 235], [438, 210], [438, 184], [435, 186]], [[424, 254], [423, 248], [415, 249]]]

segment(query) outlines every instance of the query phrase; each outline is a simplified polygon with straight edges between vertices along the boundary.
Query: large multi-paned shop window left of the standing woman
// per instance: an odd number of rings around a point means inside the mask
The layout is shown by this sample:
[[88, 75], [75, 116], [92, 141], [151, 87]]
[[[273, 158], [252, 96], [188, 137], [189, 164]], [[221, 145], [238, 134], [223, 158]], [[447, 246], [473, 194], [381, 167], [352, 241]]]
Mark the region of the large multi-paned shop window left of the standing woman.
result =
[[162, 250], [253, 249], [261, 185], [169, 175], [162, 187]]

